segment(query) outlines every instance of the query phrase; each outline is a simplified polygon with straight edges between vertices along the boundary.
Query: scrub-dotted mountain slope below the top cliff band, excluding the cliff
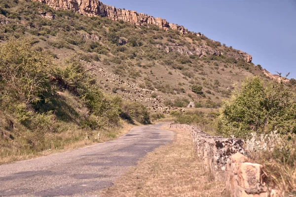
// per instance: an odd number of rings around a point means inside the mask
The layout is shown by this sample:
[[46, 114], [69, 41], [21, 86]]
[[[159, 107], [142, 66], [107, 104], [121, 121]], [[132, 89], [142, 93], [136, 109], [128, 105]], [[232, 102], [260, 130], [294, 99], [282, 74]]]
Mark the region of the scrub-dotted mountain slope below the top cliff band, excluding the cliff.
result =
[[[84, 66], [87, 63], [94, 67], [103, 66], [109, 73], [156, 91], [159, 97], [173, 103], [174, 99], [180, 98], [198, 102], [197, 106], [201, 107], [219, 106], [220, 99], [228, 98], [231, 93], [232, 82], [225, 76], [239, 81], [249, 74], [261, 74], [258, 66], [231, 57], [239, 55], [238, 50], [206, 36], [166, 32], [153, 25], [139, 27], [104, 17], [87, 17], [69, 10], [53, 10], [31, 1], [0, 0], [0, 7], [1, 16], [10, 22], [0, 25], [0, 42], [30, 35], [36, 39], [38, 50], [57, 61], [64, 61], [74, 54], [84, 61]], [[40, 13], [51, 14], [54, 19]], [[165, 48], [172, 46], [193, 52], [196, 48], [211, 47], [222, 55], [199, 57], [190, 55], [192, 52], [182, 54], [177, 48], [167, 53]], [[103, 80], [100, 76], [97, 79]], [[120, 94], [115, 88], [122, 87], [122, 84], [111, 87], [111, 83], [104, 83], [105, 92]], [[203, 94], [193, 94], [191, 86], [194, 85], [202, 86]], [[126, 95], [124, 99], [134, 98]]]

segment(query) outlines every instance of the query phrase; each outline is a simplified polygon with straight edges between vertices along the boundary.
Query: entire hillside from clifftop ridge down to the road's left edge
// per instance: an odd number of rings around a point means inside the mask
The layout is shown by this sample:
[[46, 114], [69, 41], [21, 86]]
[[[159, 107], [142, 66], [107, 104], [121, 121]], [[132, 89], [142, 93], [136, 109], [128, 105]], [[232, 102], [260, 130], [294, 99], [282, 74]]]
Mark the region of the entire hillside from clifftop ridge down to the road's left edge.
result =
[[217, 108], [246, 76], [279, 80], [251, 55], [164, 19], [39, 1], [0, 0], [1, 157], [104, 141], [121, 120], [150, 123], [147, 109]]

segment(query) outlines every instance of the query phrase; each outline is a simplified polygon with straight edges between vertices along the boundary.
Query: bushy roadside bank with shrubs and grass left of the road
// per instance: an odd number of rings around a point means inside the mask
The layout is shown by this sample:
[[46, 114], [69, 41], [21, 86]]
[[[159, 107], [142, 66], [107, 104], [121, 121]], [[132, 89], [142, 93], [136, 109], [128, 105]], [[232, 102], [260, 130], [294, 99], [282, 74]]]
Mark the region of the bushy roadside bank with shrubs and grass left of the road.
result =
[[35, 42], [14, 39], [0, 48], [1, 158], [100, 141], [98, 132], [119, 127], [120, 117], [150, 123], [146, 107], [106, 95], [75, 57], [57, 65]]

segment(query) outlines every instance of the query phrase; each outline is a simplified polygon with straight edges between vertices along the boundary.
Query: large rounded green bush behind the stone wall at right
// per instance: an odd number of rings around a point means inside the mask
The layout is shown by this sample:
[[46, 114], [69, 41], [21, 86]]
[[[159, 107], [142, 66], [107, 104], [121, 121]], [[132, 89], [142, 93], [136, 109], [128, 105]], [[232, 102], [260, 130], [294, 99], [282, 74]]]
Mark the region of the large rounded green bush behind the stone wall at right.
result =
[[296, 97], [283, 84], [247, 78], [229, 101], [222, 104], [219, 131], [243, 137], [250, 131], [282, 134], [296, 132]]

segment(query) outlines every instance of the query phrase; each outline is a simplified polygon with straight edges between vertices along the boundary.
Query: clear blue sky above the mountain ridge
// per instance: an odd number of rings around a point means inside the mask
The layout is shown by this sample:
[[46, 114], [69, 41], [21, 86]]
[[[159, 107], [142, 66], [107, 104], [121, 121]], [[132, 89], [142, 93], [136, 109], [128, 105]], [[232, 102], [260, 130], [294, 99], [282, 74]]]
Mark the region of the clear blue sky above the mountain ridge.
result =
[[296, 78], [296, 0], [102, 0], [245, 51], [271, 73]]

